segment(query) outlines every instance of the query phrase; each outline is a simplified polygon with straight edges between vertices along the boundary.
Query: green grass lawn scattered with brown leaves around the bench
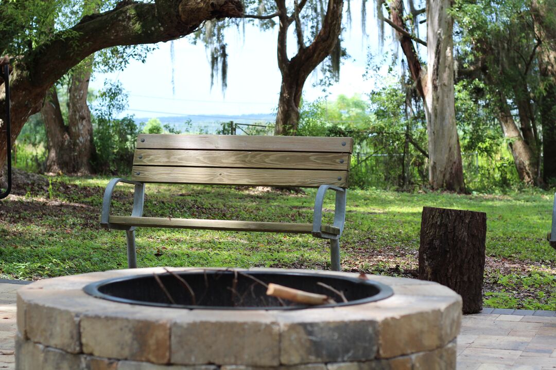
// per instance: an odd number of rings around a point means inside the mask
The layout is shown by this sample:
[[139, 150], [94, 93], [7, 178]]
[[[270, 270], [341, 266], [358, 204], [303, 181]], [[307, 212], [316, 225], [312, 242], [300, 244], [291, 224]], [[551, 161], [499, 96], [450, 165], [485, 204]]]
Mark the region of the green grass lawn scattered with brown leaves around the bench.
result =
[[[0, 201], [0, 278], [39, 279], [126, 267], [125, 233], [98, 223], [107, 178], [53, 178]], [[115, 192], [113, 210], [131, 212], [132, 187]], [[305, 194], [257, 188], [147, 185], [146, 216], [312, 222]], [[553, 194], [456, 195], [351, 190], [340, 240], [345, 271], [415, 277], [423, 206], [487, 215], [485, 305], [556, 310], [556, 251], [545, 240]], [[333, 195], [325, 216], [332, 218]], [[324, 240], [310, 235], [138, 229], [146, 266], [327, 268]]]

